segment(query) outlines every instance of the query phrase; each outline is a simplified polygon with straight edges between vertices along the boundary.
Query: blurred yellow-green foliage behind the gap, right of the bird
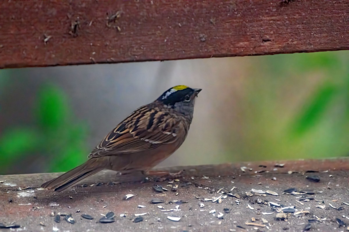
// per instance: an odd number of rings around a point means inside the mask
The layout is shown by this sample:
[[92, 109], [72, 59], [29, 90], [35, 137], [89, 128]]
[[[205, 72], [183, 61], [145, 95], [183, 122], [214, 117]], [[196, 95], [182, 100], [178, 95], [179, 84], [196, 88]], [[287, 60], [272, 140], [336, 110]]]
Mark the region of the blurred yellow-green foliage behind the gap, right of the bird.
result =
[[273, 55], [255, 62], [246, 85], [245, 143], [238, 159], [347, 156], [348, 63], [348, 51]]

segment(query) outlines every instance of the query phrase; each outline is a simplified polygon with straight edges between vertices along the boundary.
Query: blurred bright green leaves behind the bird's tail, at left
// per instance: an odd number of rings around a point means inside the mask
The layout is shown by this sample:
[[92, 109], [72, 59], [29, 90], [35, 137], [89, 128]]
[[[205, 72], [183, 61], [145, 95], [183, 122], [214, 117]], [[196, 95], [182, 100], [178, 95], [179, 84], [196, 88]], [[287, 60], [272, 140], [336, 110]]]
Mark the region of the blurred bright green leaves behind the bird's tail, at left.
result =
[[61, 89], [44, 85], [32, 111], [33, 126], [20, 125], [1, 133], [0, 173], [28, 156], [44, 160], [45, 171], [49, 172], [66, 171], [86, 160], [87, 125], [74, 120]]

